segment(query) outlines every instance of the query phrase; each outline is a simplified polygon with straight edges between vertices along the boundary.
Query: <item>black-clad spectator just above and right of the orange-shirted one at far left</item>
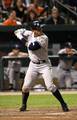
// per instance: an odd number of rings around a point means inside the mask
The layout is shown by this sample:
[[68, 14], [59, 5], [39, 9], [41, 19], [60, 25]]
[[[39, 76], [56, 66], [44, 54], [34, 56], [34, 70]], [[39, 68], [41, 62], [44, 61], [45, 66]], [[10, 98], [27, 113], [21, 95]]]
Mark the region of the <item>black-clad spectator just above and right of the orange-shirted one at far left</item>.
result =
[[14, 10], [16, 11], [17, 18], [23, 23], [27, 15], [27, 8], [24, 2], [22, 0], [16, 0]]

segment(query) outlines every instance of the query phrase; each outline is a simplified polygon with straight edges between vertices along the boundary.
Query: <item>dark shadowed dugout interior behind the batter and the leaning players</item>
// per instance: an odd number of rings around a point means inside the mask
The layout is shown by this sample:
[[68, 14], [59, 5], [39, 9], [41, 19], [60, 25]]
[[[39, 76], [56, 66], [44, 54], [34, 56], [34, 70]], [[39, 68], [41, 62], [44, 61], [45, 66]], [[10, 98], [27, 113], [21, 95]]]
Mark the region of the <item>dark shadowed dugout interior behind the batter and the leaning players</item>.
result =
[[[12, 50], [15, 44], [19, 44], [21, 46], [21, 50], [27, 52], [26, 47], [14, 35], [14, 30], [20, 27], [26, 28], [26, 26], [0, 27], [0, 89], [3, 88], [3, 69], [8, 65], [8, 59], [2, 59], [2, 56], [6, 56]], [[75, 49], [77, 48], [77, 25], [51, 25], [50, 27], [44, 27], [43, 31], [49, 37], [48, 54], [53, 67], [58, 65], [59, 58], [57, 57], [57, 51], [64, 46], [66, 41], [70, 41], [73, 47]], [[59, 48], [53, 47], [55, 45]], [[29, 59], [21, 59], [21, 61], [22, 67], [28, 67]]]

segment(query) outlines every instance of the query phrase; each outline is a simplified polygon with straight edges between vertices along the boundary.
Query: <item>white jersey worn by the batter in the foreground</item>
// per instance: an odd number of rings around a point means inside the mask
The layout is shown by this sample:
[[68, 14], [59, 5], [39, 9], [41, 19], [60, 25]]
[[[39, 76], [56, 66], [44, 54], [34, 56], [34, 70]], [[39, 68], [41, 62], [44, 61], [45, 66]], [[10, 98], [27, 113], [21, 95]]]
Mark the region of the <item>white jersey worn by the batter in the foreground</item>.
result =
[[38, 41], [40, 44], [41, 48], [38, 50], [32, 51], [28, 49], [29, 57], [32, 61], [38, 62], [39, 60], [48, 60], [48, 37], [45, 34], [34, 37], [34, 33], [32, 31], [25, 29], [18, 29], [15, 34], [20, 40], [22, 40], [23, 36], [26, 38], [25, 45], [27, 45], [27, 48], [31, 43], [34, 43], [34, 41]]

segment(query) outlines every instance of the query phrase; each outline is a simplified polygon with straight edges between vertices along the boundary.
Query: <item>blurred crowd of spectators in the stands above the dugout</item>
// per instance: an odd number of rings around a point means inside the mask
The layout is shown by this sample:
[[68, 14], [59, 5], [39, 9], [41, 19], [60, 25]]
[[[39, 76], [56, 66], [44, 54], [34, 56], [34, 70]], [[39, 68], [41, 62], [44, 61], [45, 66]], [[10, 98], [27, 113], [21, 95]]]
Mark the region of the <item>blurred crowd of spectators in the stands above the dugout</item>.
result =
[[[59, 1], [76, 12], [77, 0]], [[23, 25], [34, 20], [43, 24], [67, 24], [67, 19], [56, 6], [56, 0], [0, 0], [1, 25]], [[70, 23], [74, 24], [76, 20]]]

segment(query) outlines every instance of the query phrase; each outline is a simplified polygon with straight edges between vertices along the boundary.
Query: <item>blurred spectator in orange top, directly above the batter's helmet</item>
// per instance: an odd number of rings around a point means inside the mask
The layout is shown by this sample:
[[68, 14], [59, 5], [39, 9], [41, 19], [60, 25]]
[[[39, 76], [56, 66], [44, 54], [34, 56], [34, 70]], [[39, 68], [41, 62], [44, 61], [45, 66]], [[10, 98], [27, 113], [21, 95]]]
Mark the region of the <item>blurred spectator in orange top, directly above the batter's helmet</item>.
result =
[[[43, 1], [33, 0], [33, 3], [30, 4], [28, 7], [28, 13], [30, 14], [30, 16], [36, 16], [33, 18], [38, 19], [40, 23], [43, 23], [44, 20], [48, 17], [48, 6], [42, 7], [39, 4], [39, 2], [43, 2]], [[32, 15], [32, 11], [33, 11], [33, 14], [36, 14], [36, 15]]]

